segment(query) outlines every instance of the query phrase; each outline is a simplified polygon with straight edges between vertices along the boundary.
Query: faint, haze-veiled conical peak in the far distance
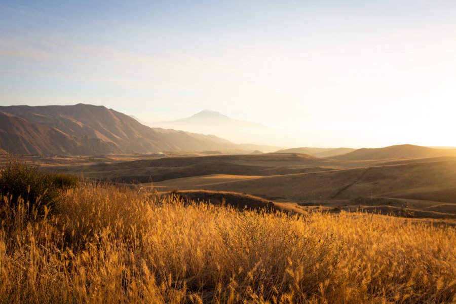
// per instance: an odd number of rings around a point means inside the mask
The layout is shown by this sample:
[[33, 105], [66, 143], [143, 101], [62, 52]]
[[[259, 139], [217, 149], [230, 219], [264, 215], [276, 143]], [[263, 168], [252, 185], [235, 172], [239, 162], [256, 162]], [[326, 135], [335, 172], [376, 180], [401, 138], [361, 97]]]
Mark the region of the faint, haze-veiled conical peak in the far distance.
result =
[[[163, 121], [149, 124], [151, 127], [186, 130], [194, 133], [214, 134], [236, 143], [262, 144], [274, 138], [274, 130], [259, 123], [236, 120], [219, 112], [203, 110], [195, 115], [175, 121]], [[272, 146], [254, 148], [265, 152], [277, 150]]]

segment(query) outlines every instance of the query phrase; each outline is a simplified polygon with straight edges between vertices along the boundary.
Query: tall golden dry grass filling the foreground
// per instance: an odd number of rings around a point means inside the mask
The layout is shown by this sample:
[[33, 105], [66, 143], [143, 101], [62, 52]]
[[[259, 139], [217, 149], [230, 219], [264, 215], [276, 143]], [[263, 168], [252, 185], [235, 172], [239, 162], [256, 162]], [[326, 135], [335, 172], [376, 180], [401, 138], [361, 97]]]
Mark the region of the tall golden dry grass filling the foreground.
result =
[[456, 301], [456, 230], [367, 214], [240, 212], [82, 184], [2, 201], [0, 302]]

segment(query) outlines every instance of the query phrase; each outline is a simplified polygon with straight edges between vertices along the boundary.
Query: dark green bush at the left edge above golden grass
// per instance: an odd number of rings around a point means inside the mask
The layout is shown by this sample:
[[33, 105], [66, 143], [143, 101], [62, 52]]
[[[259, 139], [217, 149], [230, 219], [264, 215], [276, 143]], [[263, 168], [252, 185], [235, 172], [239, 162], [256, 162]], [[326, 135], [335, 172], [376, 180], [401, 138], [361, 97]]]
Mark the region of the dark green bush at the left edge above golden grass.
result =
[[8, 197], [10, 207], [19, 198], [29, 202], [29, 209], [40, 206], [39, 214], [59, 203], [62, 189], [74, 187], [78, 178], [56, 173], [45, 173], [35, 163], [19, 161], [7, 156], [6, 163], [0, 168], [0, 196]]

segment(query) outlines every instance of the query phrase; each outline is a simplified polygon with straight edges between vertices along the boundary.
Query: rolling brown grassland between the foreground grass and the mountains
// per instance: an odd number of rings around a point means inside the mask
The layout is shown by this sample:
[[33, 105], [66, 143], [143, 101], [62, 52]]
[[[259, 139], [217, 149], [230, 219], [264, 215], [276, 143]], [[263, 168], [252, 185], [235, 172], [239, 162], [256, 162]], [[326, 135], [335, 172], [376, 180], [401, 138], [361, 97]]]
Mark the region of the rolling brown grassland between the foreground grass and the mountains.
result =
[[235, 192], [273, 201], [280, 209], [359, 209], [456, 224], [456, 158], [385, 159], [390, 156], [361, 161], [290, 153], [21, 159], [40, 162], [52, 172], [117, 183], [139, 182], [160, 192]]

